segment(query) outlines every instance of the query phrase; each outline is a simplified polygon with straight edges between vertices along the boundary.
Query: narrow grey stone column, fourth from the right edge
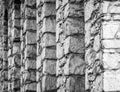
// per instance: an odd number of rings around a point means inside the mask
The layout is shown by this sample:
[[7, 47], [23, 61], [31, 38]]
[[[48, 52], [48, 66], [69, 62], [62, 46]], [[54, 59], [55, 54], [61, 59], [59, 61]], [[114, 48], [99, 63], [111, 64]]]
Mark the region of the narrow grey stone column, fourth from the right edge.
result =
[[36, 92], [36, 0], [23, 0], [21, 92]]

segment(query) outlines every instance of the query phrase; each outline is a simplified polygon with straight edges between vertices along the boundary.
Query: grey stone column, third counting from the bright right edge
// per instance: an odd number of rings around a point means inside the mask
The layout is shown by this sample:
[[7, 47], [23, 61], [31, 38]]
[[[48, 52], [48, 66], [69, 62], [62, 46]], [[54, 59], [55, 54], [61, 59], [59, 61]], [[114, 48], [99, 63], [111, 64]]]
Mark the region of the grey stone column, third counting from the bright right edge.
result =
[[37, 92], [56, 92], [56, 0], [37, 0]]

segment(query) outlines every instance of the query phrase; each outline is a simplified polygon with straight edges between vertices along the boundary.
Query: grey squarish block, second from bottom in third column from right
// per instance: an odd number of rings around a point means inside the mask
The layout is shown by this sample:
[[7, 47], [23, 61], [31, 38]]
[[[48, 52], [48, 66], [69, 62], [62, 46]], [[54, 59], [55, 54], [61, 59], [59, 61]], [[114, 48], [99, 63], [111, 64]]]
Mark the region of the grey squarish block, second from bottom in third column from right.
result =
[[43, 74], [56, 74], [56, 60], [45, 60], [43, 62]]

